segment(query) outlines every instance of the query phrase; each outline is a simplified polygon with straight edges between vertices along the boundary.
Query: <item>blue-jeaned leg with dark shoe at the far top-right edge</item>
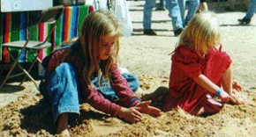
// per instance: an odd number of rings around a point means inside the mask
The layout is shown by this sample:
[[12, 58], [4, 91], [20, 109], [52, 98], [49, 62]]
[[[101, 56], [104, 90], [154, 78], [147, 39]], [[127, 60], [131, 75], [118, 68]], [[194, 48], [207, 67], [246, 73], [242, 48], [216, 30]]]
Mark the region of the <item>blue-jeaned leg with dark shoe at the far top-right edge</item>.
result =
[[238, 21], [241, 23], [249, 24], [251, 22], [251, 18], [254, 12], [256, 12], [256, 0], [251, 0], [250, 6], [248, 8], [248, 11], [245, 14], [245, 17], [242, 19], [238, 19]]

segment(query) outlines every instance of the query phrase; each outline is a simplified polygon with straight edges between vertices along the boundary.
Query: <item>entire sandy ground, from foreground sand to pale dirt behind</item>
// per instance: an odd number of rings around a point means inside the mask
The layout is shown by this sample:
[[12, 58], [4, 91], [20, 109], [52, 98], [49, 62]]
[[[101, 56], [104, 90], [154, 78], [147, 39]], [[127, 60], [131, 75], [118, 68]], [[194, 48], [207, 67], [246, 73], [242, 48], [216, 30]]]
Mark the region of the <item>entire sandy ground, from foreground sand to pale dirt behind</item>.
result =
[[[120, 66], [139, 76], [140, 88], [152, 105], [162, 108], [169, 82], [170, 56], [178, 40], [174, 37], [168, 11], [153, 11], [152, 29], [158, 36], [142, 34], [142, 11], [145, 1], [127, 1], [130, 5], [132, 37], [121, 38]], [[154, 118], [146, 114], [144, 120], [129, 124], [80, 105], [80, 118], [71, 126], [72, 136], [254, 136], [256, 133], [256, 18], [251, 25], [239, 25], [237, 18], [245, 16], [245, 8], [230, 11], [226, 6], [209, 4], [220, 21], [223, 50], [232, 59], [233, 79], [244, 90], [248, 105], [224, 105], [222, 111], [207, 117], [194, 117], [178, 109], [163, 112]], [[38, 81], [37, 81], [38, 83]], [[11, 83], [16, 84], [16, 83]], [[50, 110], [41, 105], [41, 94], [34, 84], [26, 82], [19, 91], [1, 90], [0, 136], [55, 136]], [[9, 89], [13, 88], [10, 87]], [[16, 88], [16, 87], [15, 87]], [[8, 102], [8, 104], [4, 104]], [[1, 103], [1, 102], [0, 102]], [[44, 108], [44, 109], [43, 109]]]

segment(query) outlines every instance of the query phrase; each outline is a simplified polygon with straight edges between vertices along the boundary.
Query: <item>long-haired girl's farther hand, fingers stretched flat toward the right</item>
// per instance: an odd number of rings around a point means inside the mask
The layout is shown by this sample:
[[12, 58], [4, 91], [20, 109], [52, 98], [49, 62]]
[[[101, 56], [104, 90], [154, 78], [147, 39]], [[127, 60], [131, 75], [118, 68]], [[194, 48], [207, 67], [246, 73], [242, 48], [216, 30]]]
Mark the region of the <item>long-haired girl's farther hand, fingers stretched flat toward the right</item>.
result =
[[151, 100], [142, 101], [141, 103], [135, 105], [135, 109], [142, 113], [147, 113], [149, 115], [161, 116], [162, 112], [160, 109], [150, 106]]

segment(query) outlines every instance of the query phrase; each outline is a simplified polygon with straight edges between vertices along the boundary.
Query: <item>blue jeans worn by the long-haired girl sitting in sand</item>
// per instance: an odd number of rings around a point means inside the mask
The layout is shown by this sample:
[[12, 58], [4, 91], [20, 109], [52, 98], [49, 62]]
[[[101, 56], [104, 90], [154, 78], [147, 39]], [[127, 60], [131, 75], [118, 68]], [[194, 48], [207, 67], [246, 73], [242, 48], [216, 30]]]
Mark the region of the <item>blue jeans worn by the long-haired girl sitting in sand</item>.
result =
[[[47, 73], [44, 80], [40, 83], [40, 92], [52, 107], [52, 114], [54, 123], [57, 117], [64, 113], [69, 113], [69, 121], [73, 121], [79, 117], [79, 90], [77, 87], [77, 74], [76, 68], [72, 63], [61, 63], [55, 71]], [[139, 80], [136, 76], [131, 74], [124, 74], [128, 84], [135, 92], [139, 88]], [[97, 83], [97, 80], [93, 80]], [[108, 83], [104, 86], [109, 87]], [[98, 85], [95, 87], [100, 90]], [[117, 99], [116, 93], [113, 89], [101, 88], [101, 93], [104, 97]]]

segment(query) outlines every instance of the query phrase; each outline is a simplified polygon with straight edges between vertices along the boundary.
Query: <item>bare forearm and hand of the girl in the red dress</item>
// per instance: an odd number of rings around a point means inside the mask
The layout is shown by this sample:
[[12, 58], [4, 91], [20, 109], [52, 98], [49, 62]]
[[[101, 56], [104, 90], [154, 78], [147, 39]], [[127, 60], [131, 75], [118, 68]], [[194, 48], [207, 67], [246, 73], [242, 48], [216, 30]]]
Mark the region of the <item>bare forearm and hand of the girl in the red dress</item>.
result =
[[[211, 82], [207, 76], [204, 76], [204, 75], [200, 75], [198, 77], [195, 77], [193, 78], [193, 80], [198, 83], [202, 88], [216, 94], [217, 91], [220, 89], [219, 86], [217, 86], [215, 83]], [[222, 102], [224, 103], [228, 103], [228, 102], [232, 102], [234, 104], [236, 104], [236, 100], [235, 98], [231, 97], [227, 92], [225, 91], [222, 91], [220, 96], [219, 96], [221, 99], [222, 99]]]

